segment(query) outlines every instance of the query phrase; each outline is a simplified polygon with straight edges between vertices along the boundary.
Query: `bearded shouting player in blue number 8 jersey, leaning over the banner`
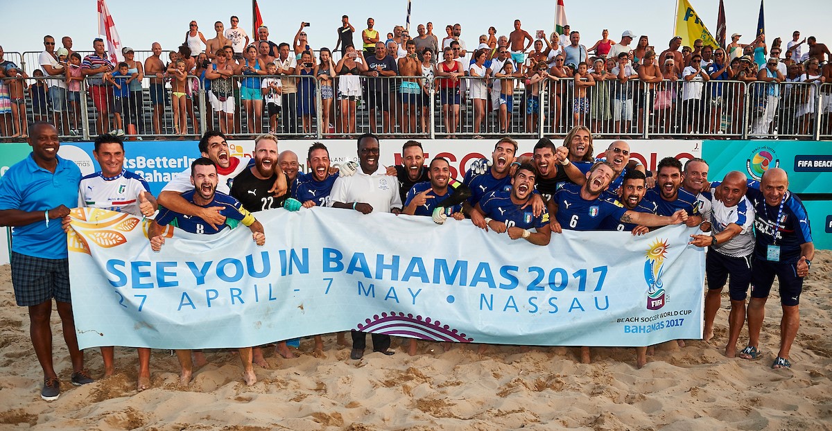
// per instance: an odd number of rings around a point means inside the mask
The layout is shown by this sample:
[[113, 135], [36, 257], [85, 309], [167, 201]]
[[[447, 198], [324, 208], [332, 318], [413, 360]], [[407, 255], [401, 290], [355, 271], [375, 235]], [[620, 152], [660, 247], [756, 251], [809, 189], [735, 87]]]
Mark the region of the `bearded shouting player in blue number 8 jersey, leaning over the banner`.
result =
[[[246, 211], [242, 204], [240, 204], [240, 201], [225, 195], [225, 193], [216, 191], [219, 176], [214, 161], [211, 161], [207, 157], [200, 157], [193, 161], [191, 163], [191, 183], [194, 189], [183, 193], [181, 198], [190, 202], [193, 206], [220, 208], [219, 213], [225, 218], [224, 222], [215, 226], [198, 216], [189, 217], [185, 214], [172, 211], [169, 208], [161, 208], [159, 215], [156, 215], [156, 220], [153, 220], [147, 229], [147, 237], [150, 238], [152, 250], [159, 251], [161, 250], [161, 246], [165, 244], [165, 237], [161, 235], [161, 226], [164, 225], [172, 225], [194, 234], [212, 235], [220, 232], [220, 230], [224, 230], [225, 227], [233, 229], [237, 225], [242, 224], [248, 226], [251, 230], [251, 237], [257, 245], [265, 244], [265, 234], [263, 233], [263, 225], [260, 225], [260, 221], [257, 221], [255, 216], [251, 215], [249, 211]], [[248, 386], [257, 382], [257, 376], [255, 375], [251, 361], [251, 354], [250, 347], [240, 348], [240, 361], [243, 364], [243, 380]], [[179, 358], [179, 364], [181, 365], [179, 382], [181, 384], [189, 384], [191, 382], [191, 374], [193, 373], [191, 350], [176, 350], [176, 356]]]

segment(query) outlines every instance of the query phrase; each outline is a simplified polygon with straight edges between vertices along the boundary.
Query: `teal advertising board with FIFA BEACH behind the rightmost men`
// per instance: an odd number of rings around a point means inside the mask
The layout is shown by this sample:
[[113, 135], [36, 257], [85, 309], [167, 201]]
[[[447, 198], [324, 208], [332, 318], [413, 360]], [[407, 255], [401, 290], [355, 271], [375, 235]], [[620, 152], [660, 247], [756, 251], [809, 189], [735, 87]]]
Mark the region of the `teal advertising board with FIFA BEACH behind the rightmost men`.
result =
[[809, 212], [815, 247], [832, 249], [832, 142], [703, 141], [702, 158], [711, 168], [711, 181], [721, 181], [730, 171], [760, 181], [770, 168], [784, 169], [789, 190], [800, 196]]

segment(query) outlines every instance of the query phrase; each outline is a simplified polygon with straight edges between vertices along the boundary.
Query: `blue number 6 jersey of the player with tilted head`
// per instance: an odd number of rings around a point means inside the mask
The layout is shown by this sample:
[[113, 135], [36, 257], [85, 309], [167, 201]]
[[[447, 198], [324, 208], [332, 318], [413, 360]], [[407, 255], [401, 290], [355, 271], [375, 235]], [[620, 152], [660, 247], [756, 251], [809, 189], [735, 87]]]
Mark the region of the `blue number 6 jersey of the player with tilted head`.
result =
[[581, 187], [577, 184], [564, 184], [555, 193], [556, 219], [562, 229], [601, 230], [604, 219], [612, 217], [619, 220], [627, 211], [618, 201], [598, 198], [592, 201], [583, 199]]

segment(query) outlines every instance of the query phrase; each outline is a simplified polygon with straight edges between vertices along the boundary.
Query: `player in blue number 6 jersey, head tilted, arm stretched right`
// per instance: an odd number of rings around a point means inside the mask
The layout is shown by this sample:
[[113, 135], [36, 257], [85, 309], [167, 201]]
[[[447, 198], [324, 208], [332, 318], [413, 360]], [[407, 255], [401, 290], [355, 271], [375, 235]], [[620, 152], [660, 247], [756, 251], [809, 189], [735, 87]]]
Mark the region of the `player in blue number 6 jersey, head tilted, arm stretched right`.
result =
[[[687, 220], [687, 213], [679, 210], [672, 216], [647, 214], [628, 210], [618, 201], [601, 199], [603, 191], [612, 181], [615, 168], [607, 161], [598, 162], [587, 172], [587, 181], [582, 185], [564, 184], [555, 193], [555, 218], [549, 223], [552, 231], [598, 230], [607, 217], [625, 223], [646, 226], [676, 225]], [[581, 362], [591, 362], [589, 347], [581, 348]]]

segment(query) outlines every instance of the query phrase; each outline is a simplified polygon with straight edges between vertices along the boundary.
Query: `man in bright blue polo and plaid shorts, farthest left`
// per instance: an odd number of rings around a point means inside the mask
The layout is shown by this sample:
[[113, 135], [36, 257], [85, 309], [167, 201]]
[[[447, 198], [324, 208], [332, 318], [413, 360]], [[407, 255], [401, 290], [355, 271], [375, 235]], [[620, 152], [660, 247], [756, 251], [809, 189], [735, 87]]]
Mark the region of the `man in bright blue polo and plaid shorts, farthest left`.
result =
[[57, 399], [61, 382], [52, 366], [52, 298], [61, 316], [72, 359], [72, 384], [92, 383], [78, 349], [69, 292], [67, 235], [61, 219], [77, 205], [81, 170], [57, 156], [55, 126], [37, 122], [29, 136], [32, 152], [0, 179], [0, 225], [12, 226], [12, 285], [17, 305], [29, 308], [32, 344], [43, 369], [41, 398]]

